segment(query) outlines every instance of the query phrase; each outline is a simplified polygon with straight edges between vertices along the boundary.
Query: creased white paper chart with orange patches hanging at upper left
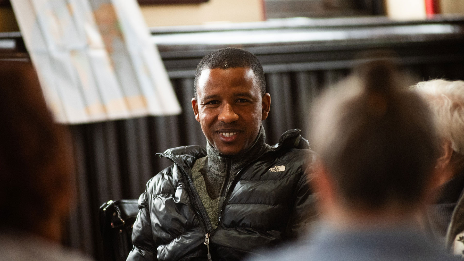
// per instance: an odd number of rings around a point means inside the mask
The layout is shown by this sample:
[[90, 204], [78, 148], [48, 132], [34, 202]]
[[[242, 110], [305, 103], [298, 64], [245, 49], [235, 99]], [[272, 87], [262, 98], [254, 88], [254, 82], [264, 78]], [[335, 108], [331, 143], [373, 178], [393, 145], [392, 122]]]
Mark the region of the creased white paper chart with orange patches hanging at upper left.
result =
[[135, 0], [11, 2], [56, 121], [180, 113]]

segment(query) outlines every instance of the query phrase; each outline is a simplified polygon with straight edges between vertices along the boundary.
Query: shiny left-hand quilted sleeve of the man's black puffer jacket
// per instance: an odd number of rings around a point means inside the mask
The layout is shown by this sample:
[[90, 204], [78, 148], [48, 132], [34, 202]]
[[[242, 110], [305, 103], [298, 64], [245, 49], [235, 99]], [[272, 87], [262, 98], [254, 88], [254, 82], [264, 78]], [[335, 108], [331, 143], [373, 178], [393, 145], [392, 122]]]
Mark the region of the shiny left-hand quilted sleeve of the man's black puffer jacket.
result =
[[127, 261], [157, 260], [155, 241], [151, 231], [149, 204], [147, 204], [145, 195], [143, 193], [139, 198], [139, 213], [132, 230], [132, 244], [134, 247], [130, 251]]

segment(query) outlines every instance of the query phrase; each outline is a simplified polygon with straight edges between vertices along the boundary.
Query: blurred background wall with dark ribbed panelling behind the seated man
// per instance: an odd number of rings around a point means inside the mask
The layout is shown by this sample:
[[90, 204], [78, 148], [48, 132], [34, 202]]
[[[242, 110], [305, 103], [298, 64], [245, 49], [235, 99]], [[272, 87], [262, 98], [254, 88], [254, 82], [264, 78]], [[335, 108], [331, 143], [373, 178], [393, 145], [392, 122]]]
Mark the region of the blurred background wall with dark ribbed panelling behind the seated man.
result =
[[[461, 12], [460, 3], [443, 10]], [[138, 198], [148, 179], [170, 165], [155, 153], [205, 144], [190, 100], [196, 65], [210, 51], [234, 46], [258, 56], [272, 97], [270, 116], [264, 121], [270, 144], [290, 128], [307, 131], [311, 98], [361, 62], [360, 51], [396, 52], [403, 70], [417, 81], [464, 80], [463, 16], [393, 21], [385, 16], [387, 4], [377, 0], [210, 0], [142, 6], [182, 113], [70, 126], [77, 195], [65, 243], [101, 260], [98, 207], [110, 199]], [[28, 60], [7, 4], [0, 8], [0, 31], [0, 62]]]

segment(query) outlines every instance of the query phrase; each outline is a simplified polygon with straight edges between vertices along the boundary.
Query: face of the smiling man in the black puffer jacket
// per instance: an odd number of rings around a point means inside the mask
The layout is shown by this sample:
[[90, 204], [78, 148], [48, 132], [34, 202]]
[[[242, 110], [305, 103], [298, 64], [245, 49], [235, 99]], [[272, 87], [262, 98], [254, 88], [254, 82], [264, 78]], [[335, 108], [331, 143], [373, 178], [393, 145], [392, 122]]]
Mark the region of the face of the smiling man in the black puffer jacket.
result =
[[250, 68], [205, 69], [192, 99], [195, 119], [220, 153], [236, 155], [251, 146], [267, 118], [271, 96], [261, 90]]

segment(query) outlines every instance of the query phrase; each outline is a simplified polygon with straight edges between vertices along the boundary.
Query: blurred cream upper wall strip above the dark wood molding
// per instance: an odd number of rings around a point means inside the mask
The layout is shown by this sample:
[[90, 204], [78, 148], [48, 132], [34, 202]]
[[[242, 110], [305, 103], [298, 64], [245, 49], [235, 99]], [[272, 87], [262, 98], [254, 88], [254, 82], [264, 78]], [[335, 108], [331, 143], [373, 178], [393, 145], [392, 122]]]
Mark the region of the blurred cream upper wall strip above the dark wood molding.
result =
[[[148, 26], [256, 22], [290, 17], [423, 13], [425, 0], [139, 0]], [[433, 0], [433, 13], [464, 14], [462, 0]], [[404, 6], [414, 6], [407, 9]], [[418, 7], [419, 6], [419, 7]], [[419, 8], [419, 9], [417, 9]], [[423, 10], [422, 10], [423, 9]], [[391, 13], [389, 13], [391, 12]], [[0, 32], [19, 30], [9, 0], [0, 0]]]

